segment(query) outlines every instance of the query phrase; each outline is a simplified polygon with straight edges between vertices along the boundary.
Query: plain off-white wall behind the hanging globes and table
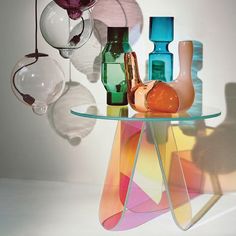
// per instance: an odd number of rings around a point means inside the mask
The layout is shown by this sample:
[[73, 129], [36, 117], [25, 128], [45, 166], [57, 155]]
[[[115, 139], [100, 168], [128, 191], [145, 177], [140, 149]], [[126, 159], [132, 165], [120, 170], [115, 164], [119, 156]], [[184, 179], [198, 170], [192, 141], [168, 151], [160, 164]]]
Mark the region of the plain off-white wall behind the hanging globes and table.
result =
[[[39, 11], [48, 3], [39, 1]], [[224, 118], [224, 87], [236, 82], [235, 0], [138, 0], [143, 10], [144, 30], [134, 46], [144, 65], [152, 44], [148, 40], [149, 16], [175, 17], [175, 42], [195, 39], [204, 44], [204, 104], [219, 107]], [[33, 51], [33, 1], [8, 0], [0, 8], [0, 177], [102, 183], [116, 122], [98, 121], [93, 132], [72, 147], [50, 127], [47, 117], [38, 117], [22, 105], [10, 88], [10, 73], [23, 55]], [[39, 37], [41, 51], [49, 53], [67, 73], [68, 62]], [[177, 57], [176, 57], [177, 58]], [[175, 65], [177, 66], [175, 61]], [[145, 68], [141, 67], [144, 76]], [[175, 75], [178, 69], [175, 67]], [[105, 96], [100, 82], [90, 84], [73, 70], [74, 80], [87, 86], [95, 98]], [[106, 135], [104, 135], [106, 132]]]

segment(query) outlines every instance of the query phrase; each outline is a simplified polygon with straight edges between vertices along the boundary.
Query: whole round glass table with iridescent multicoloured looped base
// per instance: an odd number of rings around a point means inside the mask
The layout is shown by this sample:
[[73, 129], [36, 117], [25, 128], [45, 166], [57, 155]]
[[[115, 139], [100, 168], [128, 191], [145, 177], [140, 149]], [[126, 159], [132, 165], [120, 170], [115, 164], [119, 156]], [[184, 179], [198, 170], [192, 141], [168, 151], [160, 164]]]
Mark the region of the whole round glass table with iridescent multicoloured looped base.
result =
[[[195, 150], [197, 140], [212, 132], [204, 121], [220, 116], [217, 109], [136, 113], [127, 106], [88, 104], [71, 113], [118, 121], [99, 210], [105, 229], [131, 229], [171, 211], [187, 230], [221, 197], [217, 178], [205, 178]], [[193, 212], [192, 202], [204, 192], [209, 200]]]

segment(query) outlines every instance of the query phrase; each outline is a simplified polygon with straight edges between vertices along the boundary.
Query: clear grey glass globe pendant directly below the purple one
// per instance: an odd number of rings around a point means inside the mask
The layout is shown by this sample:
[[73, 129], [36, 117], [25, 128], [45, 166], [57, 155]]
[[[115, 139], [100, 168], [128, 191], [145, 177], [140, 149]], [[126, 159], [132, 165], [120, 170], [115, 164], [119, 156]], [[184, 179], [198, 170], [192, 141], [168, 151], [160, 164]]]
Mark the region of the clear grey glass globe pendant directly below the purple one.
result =
[[92, 34], [93, 19], [90, 11], [83, 11], [81, 14], [80, 17], [71, 19], [54, 1], [41, 14], [40, 29], [44, 39], [58, 49], [64, 58], [69, 58], [75, 49], [82, 47]]

